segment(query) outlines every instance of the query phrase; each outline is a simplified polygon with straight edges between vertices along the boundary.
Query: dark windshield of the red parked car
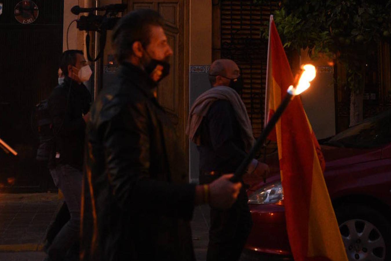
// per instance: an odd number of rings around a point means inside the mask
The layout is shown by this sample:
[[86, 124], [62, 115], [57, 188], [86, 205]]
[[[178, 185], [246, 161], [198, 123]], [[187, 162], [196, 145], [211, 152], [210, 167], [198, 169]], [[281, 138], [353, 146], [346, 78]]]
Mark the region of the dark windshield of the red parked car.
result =
[[378, 148], [391, 142], [391, 110], [338, 133], [323, 144], [344, 148]]

